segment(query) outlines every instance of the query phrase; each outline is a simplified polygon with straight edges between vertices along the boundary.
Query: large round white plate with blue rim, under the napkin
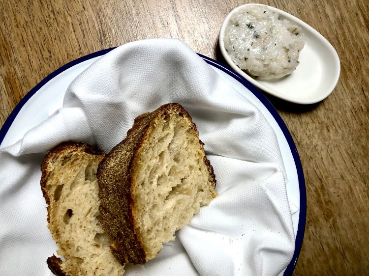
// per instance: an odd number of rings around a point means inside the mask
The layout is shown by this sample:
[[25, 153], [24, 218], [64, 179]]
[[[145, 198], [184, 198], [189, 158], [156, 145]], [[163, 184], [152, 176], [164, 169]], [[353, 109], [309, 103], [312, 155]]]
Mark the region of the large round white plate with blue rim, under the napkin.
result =
[[[37, 84], [17, 105], [9, 115], [0, 130], [0, 148], [11, 145], [23, 138], [24, 134], [46, 120], [55, 110], [62, 107], [62, 100], [69, 83], [83, 70], [89, 67], [101, 55], [111, 49], [99, 51], [69, 62]], [[295, 253], [284, 275], [292, 274], [299, 256], [306, 223], [306, 190], [303, 170], [297, 149], [290, 133], [272, 104], [251, 83], [247, 82], [237, 73], [231, 71], [223, 64], [200, 55], [215, 72], [225, 81], [233, 85], [240, 93], [250, 100], [263, 113], [277, 134], [283, 162], [289, 182], [287, 195], [297, 210], [292, 215], [293, 227], [296, 237]]]

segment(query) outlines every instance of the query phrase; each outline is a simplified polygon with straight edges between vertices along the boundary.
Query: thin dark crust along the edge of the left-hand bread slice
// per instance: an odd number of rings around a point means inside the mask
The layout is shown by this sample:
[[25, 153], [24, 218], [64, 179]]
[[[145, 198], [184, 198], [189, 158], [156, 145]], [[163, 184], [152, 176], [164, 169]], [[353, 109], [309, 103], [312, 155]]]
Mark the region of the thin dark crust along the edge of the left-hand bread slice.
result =
[[[62, 154], [66, 152], [77, 152], [77, 151], [84, 151], [87, 154], [91, 155], [99, 155], [103, 156], [105, 153], [96, 147], [82, 143], [82, 142], [62, 142], [61, 144], [55, 146], [52, 148], [44, 157], [44, 160], [41, 164], [41, 180], [40, 180], [40, 186], [42, 194], [45, 198], [46, 204], [47, 204], [47, 221], [50, 223], [50, 197], [47, 190], [47, 182], [50, 175], [50, 172], [53, 169], [53, 163], [55, 160]], [[64, 273], [62, 270], [62, 259], [58, 258], [57, 256], [53, 255], [47, 259], [47, 265], [52, 273], [54, 273], [56, 276], [68, 276]]]

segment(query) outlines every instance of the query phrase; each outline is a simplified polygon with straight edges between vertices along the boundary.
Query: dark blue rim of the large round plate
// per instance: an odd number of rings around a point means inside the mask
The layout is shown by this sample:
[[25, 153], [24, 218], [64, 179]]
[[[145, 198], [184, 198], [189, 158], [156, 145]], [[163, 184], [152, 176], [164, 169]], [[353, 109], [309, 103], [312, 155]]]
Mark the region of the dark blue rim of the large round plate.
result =
[[[51, 79], [53, 79], [54, 77], [56, 77], [57, 75], [59, 75], [60, 73], [65, 71], [66, 69], [68, 69], [68, 68], [70, 68], [74, 65], [77, 65], [78, 63], [81, 63], [83, 61], [86, 61], [88, 59], [91, 59], [91, 58], [94, 58], [94, 57], [97, 57], [97, 56], [100, 56], [100, 55], [105, 55], [106, 53], [109, 53], [110, 51], [112, 51], [115, 48], [116, 47], [101, 50], [101, 51], [97, 51], [97, 52], [94, 52], [92, 54], [85, 55], [85, 56], [79, 57], [75, 60], [72, 60], [72, 61], [68, 62], [67, 64], [63, 65], [62, 67], [60, 67], [58, 70], [56, 70], [53, 73], [51, 73], [50, 75], [48, 75], [40, 83], [38, 83], [36, 86], [34, 86], [31, 89], [31, 91], [28, 92], [22, 98], [22, 100], [17, 104], [17, 106], [10, 113], [10, 115], [6, 119], [5, 123], [1, 127], [1, 129], [0, 129], [0, 145], [2, 143], [2, 140], [5, 138], [5, 135], [8, 132], [11, 124], [13, 123], [14, 119], [18, 115], [19, 111], [23, 108], [23, 106], [27, 103], [27, 101], [43, 85], [45, 85], [47, 82], [49, 82]], [[297, 176], [298, 176], [298, 180], [299, 180], [299, 190], [300, 190], [300, 216], [299, 216], [299, 223], [298, 223], [298, 227], [297, 227], [297, 235], [296, 235], [296, 240], [295, 240], [295, 251], [293, 253], [293, 257], [292, 257], [291, 262], [288, 264], [288, 266], [287, 266], [287, 268], [286, 268], [286, 270], [284, 271], [284, 274], [283, 274], [284, 276], [292, 275], [292, 272], [295, 269], [295, 266], [296, 266], [296, 263], [297, 263], [297, 259], [300, 255], [301, 247], [302, 247], [303, 240], [304, 240], [305, 225], [306, 225], [306, 208], [307, 208], [304, 172], [303, 172], [303, 168], [302, 168], [302, 165], [301, 165], [300, 157], [299, 157], [299, 154], [297, 152], [295, 142], [293, 141], [292, 136], [291, 136], [290, 132], [287, 129], [287, 126], [283, 122], [283, 120], [280, 117], [280, 115], [278, 114], [277, 110], [273, 107], [271, 102], [269, 102], [269, 100], [254, 85], [252, 85], [250, 82], [248, 82], [240, 74], [238, 74], [235, 71], [233, 71], [232, 69], [230, 69], [228, 66], [226, 66], [226, 65], [224, 65], [224, 64], [222, 64], [222, 63], [220, 63], [220, 62], [218, 62], [218, 61], [216, 61], [216, 60], [214, 60], [210, 57], [207, 57], [206, 55], [201, 55], [201, 54], [197, 54], [197, 55], [199, 55], [202, 59], [204, 59], [208, 64], [214, 66], [215, 68], [223, 71], [224, 73], [228, 74], [232, 78], [236, 79], [239, 83], [243, 84], [248, 90], [250, 90], [252, 92], [252, 94], [254, 94], [256, 96], [256, 98], [258, 98], [259, 101], [272, 114], [272, 116], [277, 121], [277, 124], [279, 125], [280, 129], [283, 132], [284, 137], [286, 138], [286, 140], [288, 142], [288, 146], [290, 147], [290, 150], [291, 150], [291, 153], [292, 153], [292, 156], [293, 156], [293, 160], [294, 160], [295, 165], [296, 165]]]

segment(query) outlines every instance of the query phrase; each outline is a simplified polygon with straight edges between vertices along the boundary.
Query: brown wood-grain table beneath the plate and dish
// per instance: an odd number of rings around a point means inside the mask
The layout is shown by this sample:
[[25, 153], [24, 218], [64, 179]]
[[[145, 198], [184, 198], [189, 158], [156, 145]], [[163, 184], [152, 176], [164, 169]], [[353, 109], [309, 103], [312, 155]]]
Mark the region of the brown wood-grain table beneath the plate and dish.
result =
[[[82, 55], [151, 37], [174, 37], [222, 61], [218, 32], [248, 1], [5, 0], [0, 3], [0, 124], [48, 74]], [[341, 60], [323, 102], [268, 96], [305, 171], [307, 224], [294, 275], [369, 275], [368, 0], [262, 0], [318, 30]]]

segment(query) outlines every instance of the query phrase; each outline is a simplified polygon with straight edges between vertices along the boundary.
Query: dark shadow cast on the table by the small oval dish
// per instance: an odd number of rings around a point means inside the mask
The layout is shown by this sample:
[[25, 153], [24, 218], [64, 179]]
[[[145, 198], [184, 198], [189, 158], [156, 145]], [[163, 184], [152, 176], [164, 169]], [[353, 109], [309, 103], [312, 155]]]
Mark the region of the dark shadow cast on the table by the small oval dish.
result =
[[[217, 61], [223, 63], [224, 65], [226, 65], [227, 67], [229, 67], [227, 62], [225, 61], [222, 53], [220, 52], [219, 39], [218, 38], [216, 39], [216, 42], [214, 44], [214, 57], [215, 57], [215, 60], [217, 60]], [[257, 89], [260, 90], [259, 88], [257, 88]], [[260, 90], [260, 91], [262, 91], [262, 90]], [[272, 105], [277, 110], [283, 110], [283, 111], [293, 112], [293, 113], [304, 113], [304, 112], [314, 110], [319, 105], [319, 103], [310, 104], [310, 105], [294, 104], [294, 103], [290, 103], [290, 102], [287, 102], [285, 100], [279, 99], [279, 98], [277, 98], [273, 95], [270, 95], [266, 92], [262, 91], [262, 93], [272, 103]]]

